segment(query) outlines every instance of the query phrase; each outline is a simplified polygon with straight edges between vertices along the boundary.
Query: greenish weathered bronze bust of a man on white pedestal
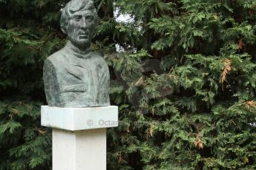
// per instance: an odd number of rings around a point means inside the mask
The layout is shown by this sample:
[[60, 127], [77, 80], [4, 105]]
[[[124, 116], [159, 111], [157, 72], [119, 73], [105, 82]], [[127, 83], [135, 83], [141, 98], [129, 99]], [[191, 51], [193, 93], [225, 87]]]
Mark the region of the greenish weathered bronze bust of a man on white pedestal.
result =
[[104, 58], [91, 51], [97, 13], [91, 0], [69, 1], [62, 10], [68, 43], [45, 60], [44, 84], [49, 106], [109, 106], [109, 71]]

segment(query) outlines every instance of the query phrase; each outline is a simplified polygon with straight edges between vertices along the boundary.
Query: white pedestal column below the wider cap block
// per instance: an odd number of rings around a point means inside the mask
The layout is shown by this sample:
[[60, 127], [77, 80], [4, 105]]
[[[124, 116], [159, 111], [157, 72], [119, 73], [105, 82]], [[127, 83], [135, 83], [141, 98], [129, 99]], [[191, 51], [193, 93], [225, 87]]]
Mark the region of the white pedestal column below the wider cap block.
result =
[[100, 170], [106, 165], [106, 129], [53, 129], [53, 170]]

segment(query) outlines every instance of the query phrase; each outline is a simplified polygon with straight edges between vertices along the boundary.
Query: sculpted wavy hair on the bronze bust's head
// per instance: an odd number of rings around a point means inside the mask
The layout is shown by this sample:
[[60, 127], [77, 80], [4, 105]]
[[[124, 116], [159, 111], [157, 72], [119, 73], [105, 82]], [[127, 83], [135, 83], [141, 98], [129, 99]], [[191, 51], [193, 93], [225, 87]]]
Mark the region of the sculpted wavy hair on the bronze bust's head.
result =
[[62, 10], [62, 16], [60, 18], [60, 28], [63, 33], [67, 34], [68, 31], [68, 20], [73, 13], [80, 10], [91, 10], [94, 14], [95, 27], [98, 25], [98, 15], [94, 7], [93, 1], [91, 0], [72, 0], [66, 4]]

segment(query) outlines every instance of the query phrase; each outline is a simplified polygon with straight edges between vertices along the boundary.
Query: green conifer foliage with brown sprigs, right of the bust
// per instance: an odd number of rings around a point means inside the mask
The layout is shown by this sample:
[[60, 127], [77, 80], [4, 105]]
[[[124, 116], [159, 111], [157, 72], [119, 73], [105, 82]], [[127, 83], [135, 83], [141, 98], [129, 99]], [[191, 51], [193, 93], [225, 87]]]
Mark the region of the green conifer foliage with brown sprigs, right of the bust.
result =
[[255, 169], [255, 1], [115, 2], [108, 169]]

